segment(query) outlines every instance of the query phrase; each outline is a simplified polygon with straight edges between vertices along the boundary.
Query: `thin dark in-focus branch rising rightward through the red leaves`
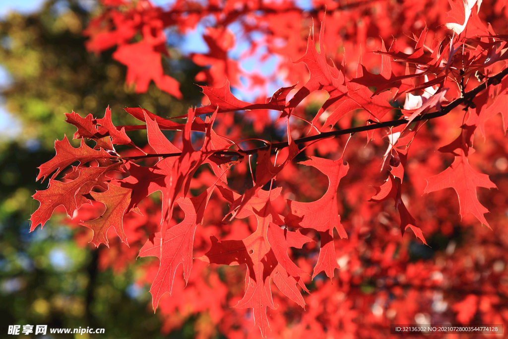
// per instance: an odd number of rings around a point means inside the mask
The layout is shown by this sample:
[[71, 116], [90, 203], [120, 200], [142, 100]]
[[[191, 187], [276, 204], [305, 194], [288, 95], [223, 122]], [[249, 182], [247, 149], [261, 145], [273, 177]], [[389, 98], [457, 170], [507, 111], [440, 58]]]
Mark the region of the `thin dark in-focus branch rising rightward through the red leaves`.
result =
[[[417, 116], [412, 121], [430, 120], [430, 119], [434, 119], [434, 118], [446, 115], [452, 109], [454, 109], [455, 107], [459, 106], [460, 104], [464, 104], [464, 103], [470, 102], [482, 90], [487, 89], [488, 86], [499, 84], [501, 82], [501, 80], [506, 75], [508, 75], [508, 68], [506, 68], [502, 72], [499, 72], [498, 74], [488, 78], [487, 81], [485, 81], [484, 83], [482, 83], [482, 84], [478, 85], [477, 87], [471, 89], [470, 91], [466, 92], [462, 97], [452, 101], [447, 106], [442, 107], [440, 111], [432, 112], [432, 113], [427, 113], [427, 114], [424, 114], [424, 115]], [[385, 128], [385, 127], [396, 127], [396, 126], [400, 126], [400, 125], [404, 125], [404, 124], [407, 124], [407, 120], [406, 119], [397, 119], [397, 120], [391, 120], [391, 121], [376, 122], [375, 124], [370, 124], [370, 125], [366, 125], [366, 126], [359, 126], [359, 127], [354, 127], [354, 128], [348, 128], [348, 129], [345, 129], [345, 130], [324, 132], [324, 133], [321, 133], [321, 134], [312, 135], [310, 137], [303, 137], [303, 138], [295, 139], [294, 142], [296, 144], [302, 144], [302, 143], [309, 142], [309, 141], [326, 139], [326, 138], [336, 137], [336, 136], [339, 136], [339, 135], [346, 135], [346, 134], [353, 134], [353, 133], [358, 133], [358, 132], [365, 132], [365, 131], [376, 130], [376, 129]], [[243, 157], [243, 156], [246, 156], [246, 155], [255, 154], [255, 153], [257, 153], [260, 150], [269, 149], [270, 147], [272, 149], [285, 148], [285, 147], [288, 147], [288, 142], [287, 141], [276, 142], [276, 143], [272, 143], [270, 145], [261, 146], [261, 147], [257, 147], [257, 148], [252, 148], [252, 149], [247, 149], [247, 150], [239, 149], [239, 150], [218, 151], [218, 152], [214, 152], [213, 155], [215, 155], [215, 156], [229, 156], [229, 157], [234, 157], [234, 156]], [[179, 157], [180, 155], [181, 155], [181, 152], [179, 152], [179, 153], [165, 153], [165, 154], [147, 154], [145, 156], [125, 157], [125, 158], [122, 158], [122, 159], [125, 159], [125, 160], [139, 160], [139, 159], [154, 158], [154, 157], [163, 157], [163, 158], [167, 158], [167, 157]]]

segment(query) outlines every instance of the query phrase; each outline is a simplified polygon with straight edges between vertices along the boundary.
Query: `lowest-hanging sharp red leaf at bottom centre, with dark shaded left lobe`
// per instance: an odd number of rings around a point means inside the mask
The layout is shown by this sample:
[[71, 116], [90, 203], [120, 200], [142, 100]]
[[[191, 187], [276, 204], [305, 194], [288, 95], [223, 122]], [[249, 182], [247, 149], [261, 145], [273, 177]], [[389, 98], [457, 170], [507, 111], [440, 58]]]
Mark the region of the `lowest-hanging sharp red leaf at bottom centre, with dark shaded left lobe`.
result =
[[[223, 195], [229, 196], [224, 188], [221, 191], [225, 192]], [[252, 308], [255, 324], [260, 327], [263, 337], [266, 337], [266, 328], [269, 327], [266, 307], [275, 309], [270, 290], [271, 278], [282, 293], [301, 306], [304, 305], [303, 298], [296, 288], [297, 283], [304, 287], [300, 280], [300, 274], [303, 274], [303, 271], [289, 259], [285, 251], [287, 246], [302, 246], [310, 239], [305, 239], [306, 237], [297, 232], [288, 232], [290, 235], [285, 239], [283, 230], [273, 223], [274, 221], [282, 223], [282, 221], [268, 199], [269, 194], [270, 198], [272, 197], [271, 192], [258, 191], [258, 194], [264, 196], [264, 199], [258, 196], [264, 200], [262, 208], [260, 210], [254, 208], [253, 204], [257, 205], [261, 201], [251, 199], [242, 210], [242, 212], [248, 211], [247, 215], [252, 213], [256, 215], [258, 220], [256, 231], [243, 240], [218, 242], [215, 237], [211, 237], [212, 247], [202, 259], [215, 264], [245, 263], [247, 265], [245, 294], [236, 307]], [[229, 198], [234, 197], [229, 196]], [[247, 215], [244, 216], [247, 217]], [[272, 248], [272, 246], [275, 247]], [[295, 276], [291, 273], [288, 276], [284, 266]]]

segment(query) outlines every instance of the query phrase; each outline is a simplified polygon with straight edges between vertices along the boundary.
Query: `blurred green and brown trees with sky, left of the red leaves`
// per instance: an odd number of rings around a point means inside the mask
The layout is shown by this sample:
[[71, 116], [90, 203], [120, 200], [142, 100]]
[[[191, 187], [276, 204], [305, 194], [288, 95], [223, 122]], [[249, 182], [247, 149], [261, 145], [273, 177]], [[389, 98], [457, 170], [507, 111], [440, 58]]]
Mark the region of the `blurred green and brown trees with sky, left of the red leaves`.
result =
[[[171, 75], [184, 95], [176, 101], [153, 84], [148, 93], [135, 94], [111, 52], [88, 53], [82, 30], [94, 6], [73, 0], [0, 1], [0, 337], [12, 337], [7, 329], [13, 324], [105, 328], [101, 338], [162, 336], [148, 289], [134, 284], [133, 267], [116, 275], [98, 269], [98, 251], [86, 242], [77, 245], [58, 218], [28, 232], [38, 207], [31, 195], [47, 187], [35, 182], [37, 167], [54, 156], [55, 138], [72, 139], [75, 132], [63, 113], [102, 116], [110, 105], [114, 124], [128, 125], [132, 121], [123, 107], [165, 116], [169, 110], [184, 114], [200, 102], [193, 80], [201, 69], [192, 61], [172, 60]], [[166, 337], [194, 337], [193, 331], [184, 324]]]

